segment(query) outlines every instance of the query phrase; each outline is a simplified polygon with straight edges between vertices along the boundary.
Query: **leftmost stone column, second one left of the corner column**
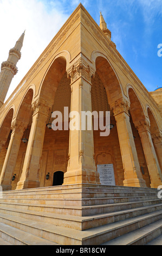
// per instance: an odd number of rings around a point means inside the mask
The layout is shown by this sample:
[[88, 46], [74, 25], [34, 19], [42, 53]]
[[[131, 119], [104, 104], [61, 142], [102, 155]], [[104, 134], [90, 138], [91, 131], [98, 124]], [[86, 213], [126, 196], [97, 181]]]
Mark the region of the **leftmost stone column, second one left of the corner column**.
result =
[[25, 128], [24, 124], [18, 120], [15, 120], [11, 124], [11, 138], [0, 177], [0, 184], [3, 190], [11, 190], [12, 176], [14, 174], [17, 155]]

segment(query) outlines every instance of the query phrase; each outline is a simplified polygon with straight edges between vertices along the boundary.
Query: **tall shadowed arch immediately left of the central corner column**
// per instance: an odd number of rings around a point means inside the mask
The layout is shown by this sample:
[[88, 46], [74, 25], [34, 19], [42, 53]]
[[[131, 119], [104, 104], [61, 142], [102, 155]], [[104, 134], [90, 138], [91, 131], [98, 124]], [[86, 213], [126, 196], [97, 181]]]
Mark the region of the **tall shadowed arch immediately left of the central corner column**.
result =
[[[70, 62], [70, 55], [68, 52], [63, 52], [57, 54], [51, 62], [46, 74], [43, 77], [43, 81], [41, 83], [40, 90], [38, 95], [40, 99], [46, 101], [51, 108], [51, 111], [60, 111], [62, 113], [62, 131], [53, 129], [48, 129], [46, 126], [44, 132], [44, 142], [42, 144], [42, 152], [48, 152], [48, 160], [47, 164], [53, 167], [53, 169], [58, 167], [58, 164], [61, 164], [62, 169], [66, 172], [66, 162], [67, 162], [67, 151], [69, 148], [69, 130], [64, 130], [64, 107], [68, 107], [70, 111], [70, 102], [71, 102], [71, 90], [70, 90], [70, 80], [67, 78], [67, 66]], [[49, 115], [47, 118], [47, 123], [53, 121], [51, 119], [51, 111], [49, 111]], [[57, 126], [57, 125], [56, 125]], [[47, 144], [47, 141], [49, 143]], [[62, 142], [62, 148], [60, 149], [60, 142]], [[54, 150], [55, 154], [49, 156], [50, 150]], [[55, 155], [63, 156], [61, 159], [61, 163], [55, 163]], [[42, 161], [46, 161], [44, 154], [42, 154]], [[48, 168], [48, 167], [47, 167]], [[43, 173], [44, 170], [41, 167], [40, 173]], [[42, 175], [42, 174], [41, 174]], [[51, 173], [53, 177], [53, 174]], [[51, 183], [44, 185], [52, 185], [53, 181], [50, 180]]]

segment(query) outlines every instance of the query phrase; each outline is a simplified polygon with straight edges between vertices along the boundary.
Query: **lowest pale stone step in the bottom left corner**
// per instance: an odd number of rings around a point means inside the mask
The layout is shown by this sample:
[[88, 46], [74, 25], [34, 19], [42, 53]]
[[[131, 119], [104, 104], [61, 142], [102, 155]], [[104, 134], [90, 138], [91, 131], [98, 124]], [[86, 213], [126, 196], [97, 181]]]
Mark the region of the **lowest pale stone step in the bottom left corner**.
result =
[[11, 245], [59, 245], [4, 223], [0, 223], [0, 236]]

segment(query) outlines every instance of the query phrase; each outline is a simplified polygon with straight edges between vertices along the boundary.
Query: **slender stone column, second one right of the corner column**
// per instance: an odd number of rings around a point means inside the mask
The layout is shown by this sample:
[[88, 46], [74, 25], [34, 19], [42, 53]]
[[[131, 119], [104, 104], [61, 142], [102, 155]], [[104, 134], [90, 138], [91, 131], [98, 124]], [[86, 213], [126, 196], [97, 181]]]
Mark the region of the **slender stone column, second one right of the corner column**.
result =
[[150, 174], [151, 187], [157, 188], [159, 185], [162, 185], [162, 179], [158, 159], [151, 138], [150, 124], [147, 120], [144, 120], [135, 123], [135, 127], [139, 132], [142, 147], [144, 149], [148, 172]]

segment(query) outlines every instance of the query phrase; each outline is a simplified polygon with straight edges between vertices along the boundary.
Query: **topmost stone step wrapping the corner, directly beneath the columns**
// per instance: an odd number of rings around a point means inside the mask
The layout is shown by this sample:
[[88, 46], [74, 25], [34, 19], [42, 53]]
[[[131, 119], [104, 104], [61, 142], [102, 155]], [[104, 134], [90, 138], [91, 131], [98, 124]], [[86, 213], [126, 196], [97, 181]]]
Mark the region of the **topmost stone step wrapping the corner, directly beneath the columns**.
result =
[[[137, 187], [123, 187], [123, 186], [101, 186], [101, 185], [87, 185], [81, 187], [82, 184], [79, 185], [66, 185], [66, 186], [55, 186], [55, 187], [42, 187], [42, 188], [28, 188], [24, 190], [14, 190], [14, 191], [3, 191], [4, 197], [17, 197], [17, 196], [42, 196], [45, 194], [47, 197], [52, 197], [56, 195], [62, 194], [62, 197], [68, 196], [75, 196], [79, 194], [79, 197], [116, 197], [116, 196], [149, 196], [156, 195], [158, 193], [156, 188], [137, 188]], [[109, 196], [108, 196], [109, 195]], [[74, 197], [74, 196], [73, 196]]]

